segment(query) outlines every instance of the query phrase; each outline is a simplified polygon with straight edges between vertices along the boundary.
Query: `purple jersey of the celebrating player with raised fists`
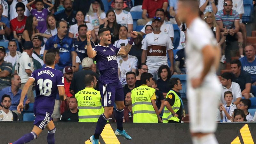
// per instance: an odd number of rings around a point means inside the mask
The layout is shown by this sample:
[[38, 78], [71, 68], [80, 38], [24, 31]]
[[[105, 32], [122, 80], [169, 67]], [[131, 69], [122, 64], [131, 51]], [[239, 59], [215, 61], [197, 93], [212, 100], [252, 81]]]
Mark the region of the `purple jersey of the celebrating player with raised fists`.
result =
[[120, 48], [116, 48], [112, 44], [108, 45], [108, 47], [98, 44], [92, 50], [97, 52], [95, 60], [100, 70], [100, 82], [102, 84], [109, 84], [119, 81], [116, 56]]

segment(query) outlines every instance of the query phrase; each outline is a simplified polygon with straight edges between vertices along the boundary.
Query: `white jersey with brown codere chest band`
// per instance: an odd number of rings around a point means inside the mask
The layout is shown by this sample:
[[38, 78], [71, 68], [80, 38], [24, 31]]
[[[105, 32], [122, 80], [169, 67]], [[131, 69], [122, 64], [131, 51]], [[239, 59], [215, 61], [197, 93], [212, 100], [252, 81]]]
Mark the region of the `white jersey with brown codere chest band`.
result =
[[148, 67], [158, 68], [167, 63], [166, 51], [173, 49], [173, 44], [168, 34], [152, 32], [143, 39], [141, 49], [147, 50]]

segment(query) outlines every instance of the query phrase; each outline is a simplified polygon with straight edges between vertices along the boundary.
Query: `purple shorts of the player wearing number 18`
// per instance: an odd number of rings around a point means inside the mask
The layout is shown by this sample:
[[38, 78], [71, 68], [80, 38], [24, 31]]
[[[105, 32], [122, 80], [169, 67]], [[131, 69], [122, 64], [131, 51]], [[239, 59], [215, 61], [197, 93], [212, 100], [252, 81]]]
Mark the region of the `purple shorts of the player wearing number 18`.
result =
[[45, 126], [52, 120], [52, 114], [45, 110], [36, 109], [34, 110], [34, 114], [36, 116], [34, 125], [38, 126], [42, 130], [44, 130]]

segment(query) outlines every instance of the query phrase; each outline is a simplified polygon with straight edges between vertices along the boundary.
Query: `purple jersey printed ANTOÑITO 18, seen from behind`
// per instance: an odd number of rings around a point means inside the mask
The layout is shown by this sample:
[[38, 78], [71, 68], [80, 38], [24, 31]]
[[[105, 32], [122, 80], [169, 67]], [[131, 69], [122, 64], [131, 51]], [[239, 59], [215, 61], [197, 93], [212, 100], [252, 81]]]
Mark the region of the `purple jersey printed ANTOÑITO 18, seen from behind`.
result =
[[52, 114], [58, 87], [64, 87], [62, 72], [46, 66], [32, 72], [29, 78], [35, 79], [36, 83], [34, 109], [45, 110]]

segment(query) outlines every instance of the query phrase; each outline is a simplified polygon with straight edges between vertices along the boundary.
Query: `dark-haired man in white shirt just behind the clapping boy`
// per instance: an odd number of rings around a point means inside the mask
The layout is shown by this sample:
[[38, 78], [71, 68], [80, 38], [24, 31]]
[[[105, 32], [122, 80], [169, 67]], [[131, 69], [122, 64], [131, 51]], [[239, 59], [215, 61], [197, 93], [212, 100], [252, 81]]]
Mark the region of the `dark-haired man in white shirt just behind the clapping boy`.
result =
[[232, 92], [232, 102], [237, 105], [242, 99], [241, 89], [238, 83], [232, 81], [232, 73], [224, 72], [221, 74], [221, 97], [220, 102], [225, 103], [225, 92]]

